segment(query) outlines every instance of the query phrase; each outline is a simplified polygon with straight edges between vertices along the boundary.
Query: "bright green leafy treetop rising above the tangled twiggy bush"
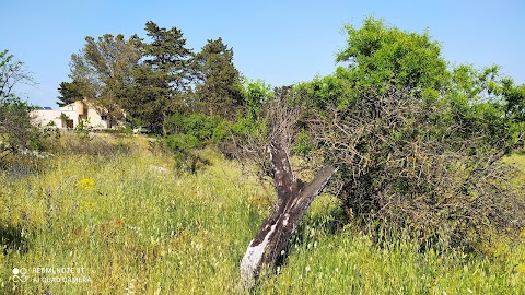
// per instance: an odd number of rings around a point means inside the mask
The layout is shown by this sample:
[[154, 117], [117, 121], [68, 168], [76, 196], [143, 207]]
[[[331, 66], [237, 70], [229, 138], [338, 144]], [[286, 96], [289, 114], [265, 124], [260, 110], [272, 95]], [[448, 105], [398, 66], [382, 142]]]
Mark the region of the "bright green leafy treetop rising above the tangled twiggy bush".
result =
[[345, 74], [354, 86], [386, 91], [394, 85], [415, 95], [432, 94], [448, 82], [441, 47], [428, 32], [408, 33], [388, 27], [383, 20], [369, 17], [361, 28], [348, 24], [347, 46], [337, 61], [349, 62]]

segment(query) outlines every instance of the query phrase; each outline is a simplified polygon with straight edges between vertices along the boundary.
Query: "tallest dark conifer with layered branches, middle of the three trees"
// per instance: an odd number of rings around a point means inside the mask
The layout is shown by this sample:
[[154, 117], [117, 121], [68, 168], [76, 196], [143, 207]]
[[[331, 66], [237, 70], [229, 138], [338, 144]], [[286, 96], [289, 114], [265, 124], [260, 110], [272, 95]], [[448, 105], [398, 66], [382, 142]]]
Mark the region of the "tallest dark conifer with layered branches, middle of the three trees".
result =
[[151, 40], [139, 43], [142, 59], [133, 69], [126, 109], [137, 123], [166, 134], [171, 116], [187, 107], [195, 76], [192, 52], [176, 27], [166, 30], [150, 21], [145, 31]]

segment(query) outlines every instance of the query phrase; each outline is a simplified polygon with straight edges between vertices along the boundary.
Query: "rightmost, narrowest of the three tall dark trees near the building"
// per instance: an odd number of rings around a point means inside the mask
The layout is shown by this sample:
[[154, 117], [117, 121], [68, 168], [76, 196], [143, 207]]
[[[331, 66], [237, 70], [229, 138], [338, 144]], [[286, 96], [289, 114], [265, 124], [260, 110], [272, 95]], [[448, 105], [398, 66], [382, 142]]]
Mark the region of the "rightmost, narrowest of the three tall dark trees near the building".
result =
[[233, 49], [222, 38], [208, 40], [196, 55], [201, 83], [196, 86], [198, 109], [210, 116], [232, 119], [242, 105], [240, 74], [233, 64]]

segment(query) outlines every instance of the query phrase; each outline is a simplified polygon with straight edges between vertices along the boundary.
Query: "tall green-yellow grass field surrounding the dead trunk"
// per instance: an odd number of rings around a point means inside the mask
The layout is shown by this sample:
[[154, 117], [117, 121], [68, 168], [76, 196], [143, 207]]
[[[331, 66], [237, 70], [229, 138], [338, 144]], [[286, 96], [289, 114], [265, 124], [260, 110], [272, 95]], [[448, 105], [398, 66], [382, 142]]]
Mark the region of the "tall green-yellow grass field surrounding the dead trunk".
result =
[[[240, 261], [271, 210], [238, 164], [203, 151], [190, 175], [141, 138], [0, 174], [0, 294], [244, 294]], [[522, 165], [525, 155], [511, 160]], [[27, 164], [27, 163], [26, 163]], [[255, 294], [525, 294], [525, 236], [490, 257], [375, 246], [334, 232], [337, 200], [308, 210], [279, 275]]]

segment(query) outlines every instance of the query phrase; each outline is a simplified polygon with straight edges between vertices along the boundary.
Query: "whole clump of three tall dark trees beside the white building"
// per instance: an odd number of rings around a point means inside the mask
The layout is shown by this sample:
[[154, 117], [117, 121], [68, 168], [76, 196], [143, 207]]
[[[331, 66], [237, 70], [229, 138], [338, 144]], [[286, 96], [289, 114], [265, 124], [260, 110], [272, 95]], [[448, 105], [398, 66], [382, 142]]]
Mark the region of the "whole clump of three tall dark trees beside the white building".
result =
[[233, 121], [246, 106], [233, 50], [222, 38], [210, 39], [194, 54], [177, 27], [145, 23], [138, 35], [88, 36], [84, 48], [71, 56], [72, 82], [59, 87], [60, 105], [78, 99], [95, 104], [114, 122], [147, 126], [170, 132], [172, 116], [202, 113]]

